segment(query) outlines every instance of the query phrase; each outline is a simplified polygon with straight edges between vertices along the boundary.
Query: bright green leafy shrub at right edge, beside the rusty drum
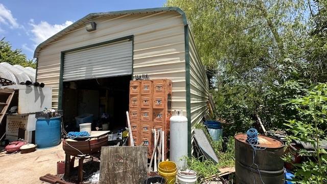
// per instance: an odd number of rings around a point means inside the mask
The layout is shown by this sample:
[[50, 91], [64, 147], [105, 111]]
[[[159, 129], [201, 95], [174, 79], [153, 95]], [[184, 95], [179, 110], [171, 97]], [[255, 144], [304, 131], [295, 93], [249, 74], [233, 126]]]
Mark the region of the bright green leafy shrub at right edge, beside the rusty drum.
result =
[[[321, 141], [327, 133], [327, 83], [309, 89], [305, 96], [289, 99], [287, 103], [298, 111], [295, 119], [288, 120], [285, 125], [292, 132], [290, 140], [303, 141], [314, 145], [314, 151], [301, 150], [301, 155], [311, 159], [295, 165], [295, 183], [326, 183], [327, 152], [320, 148]], [[291, 162], [291, 155], [285, 157]]]

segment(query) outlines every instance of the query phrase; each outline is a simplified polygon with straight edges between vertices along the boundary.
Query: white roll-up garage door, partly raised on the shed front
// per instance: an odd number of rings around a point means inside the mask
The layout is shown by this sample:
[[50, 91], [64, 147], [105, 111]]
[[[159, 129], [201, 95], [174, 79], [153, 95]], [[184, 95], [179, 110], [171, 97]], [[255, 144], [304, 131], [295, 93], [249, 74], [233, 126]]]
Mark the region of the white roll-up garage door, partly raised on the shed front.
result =
[[130, 40], [65, 53], [63, 81], [131, 75], [132, 53]]

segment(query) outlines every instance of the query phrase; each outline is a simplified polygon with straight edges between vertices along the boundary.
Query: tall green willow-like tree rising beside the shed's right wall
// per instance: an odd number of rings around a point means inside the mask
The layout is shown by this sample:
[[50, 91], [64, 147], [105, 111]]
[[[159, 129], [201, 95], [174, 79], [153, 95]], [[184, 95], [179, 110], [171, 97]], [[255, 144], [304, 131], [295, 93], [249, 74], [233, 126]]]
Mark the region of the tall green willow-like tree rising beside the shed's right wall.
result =
[[299, 93], [279, 90], [302, 77], [297, 66], [303, 66], [302, 45], [311, 28], [307, 1], [168, 0], [166, 6], [186, 13], [202, 62], [217, 71], [217, 116], [232, 123], [233, 132], [246, 130], [256, 114], [267, 126], [282, 126], [279, 112], [287, 109], [279, 104]]

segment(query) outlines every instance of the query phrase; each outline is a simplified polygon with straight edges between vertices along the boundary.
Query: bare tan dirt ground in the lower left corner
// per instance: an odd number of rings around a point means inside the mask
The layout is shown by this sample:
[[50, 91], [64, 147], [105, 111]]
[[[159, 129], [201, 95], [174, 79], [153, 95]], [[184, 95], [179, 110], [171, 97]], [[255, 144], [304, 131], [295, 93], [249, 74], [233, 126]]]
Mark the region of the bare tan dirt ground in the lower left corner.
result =
[[0, 183], [48, 183], [39, 177], [57, 174], [57, 162], [64, 159], [62, 144], [26, 154], [0, 154]]

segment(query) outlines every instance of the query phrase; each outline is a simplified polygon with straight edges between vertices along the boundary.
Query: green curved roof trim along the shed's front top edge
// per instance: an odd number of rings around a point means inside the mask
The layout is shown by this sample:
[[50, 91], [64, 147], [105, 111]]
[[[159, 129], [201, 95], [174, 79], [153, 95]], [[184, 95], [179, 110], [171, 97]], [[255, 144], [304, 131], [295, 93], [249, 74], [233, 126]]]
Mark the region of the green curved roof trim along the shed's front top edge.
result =
[[59, 37], [63, 36], [64, 34], [68, 33], [76, 29], [77, 27], [84, 25], [85, 22], [90, 21], [93, 18], [101, 17], [101, 16], [115, 16], [115, 15], [126, 15], [126, 14], [139, 14], [139, 13], [156, 13], [162, 11], [175, 11], [178, 12], [183, 18], [184, 26], [188, 25], [188, 20], [186, 19], [186, 15], [180, 8], [177, 7], [161, 7], [161, 8], [147, 8], [147, 9], [136, 9], [136, 10], [123, 10], [123, 11], [113, 11], [113, 12], [102, 12], [102, 13], [90, 13], [83, 18], [77, 20], [72, 25], [66, 27], [65, 29], [61, 30], [60, 32], [56, 33], [55, 35], [51, 36], [50, 38], [46, 39], [39, 45], [37, 45], [34, 51], [34, 58], [38, 57], [39, 51], [46, 45], [55, 40]]

